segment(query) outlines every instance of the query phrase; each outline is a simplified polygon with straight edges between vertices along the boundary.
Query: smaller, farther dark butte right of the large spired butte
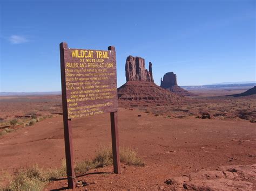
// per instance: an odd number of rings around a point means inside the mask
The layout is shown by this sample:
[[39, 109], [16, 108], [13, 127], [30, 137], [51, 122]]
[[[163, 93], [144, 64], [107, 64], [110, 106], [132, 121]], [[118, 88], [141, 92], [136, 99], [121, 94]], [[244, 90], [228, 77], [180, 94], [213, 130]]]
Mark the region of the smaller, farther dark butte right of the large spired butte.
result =
[[167, 89], [173, 93], [183, 95], [183, 96], [193, 96], [193, 94], [181, 87], [178, 86], [177, 83], [177, 76], [173, 72], [168, 72], [164, 75], [163, 80], [161, 78], [161, 85], [160, 87]]

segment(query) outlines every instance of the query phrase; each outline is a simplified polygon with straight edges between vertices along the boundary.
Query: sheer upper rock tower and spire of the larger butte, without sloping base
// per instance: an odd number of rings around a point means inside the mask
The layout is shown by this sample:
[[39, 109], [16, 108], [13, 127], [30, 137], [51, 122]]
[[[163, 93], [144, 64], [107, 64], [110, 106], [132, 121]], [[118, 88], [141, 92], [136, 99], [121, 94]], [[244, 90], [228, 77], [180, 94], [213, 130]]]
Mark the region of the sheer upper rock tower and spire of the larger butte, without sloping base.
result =
[[152, 63], [149, 71], [145, 69], [145, 60], [140, 57], [128, 56], [125, 63], [126, 81], [153, 82]]

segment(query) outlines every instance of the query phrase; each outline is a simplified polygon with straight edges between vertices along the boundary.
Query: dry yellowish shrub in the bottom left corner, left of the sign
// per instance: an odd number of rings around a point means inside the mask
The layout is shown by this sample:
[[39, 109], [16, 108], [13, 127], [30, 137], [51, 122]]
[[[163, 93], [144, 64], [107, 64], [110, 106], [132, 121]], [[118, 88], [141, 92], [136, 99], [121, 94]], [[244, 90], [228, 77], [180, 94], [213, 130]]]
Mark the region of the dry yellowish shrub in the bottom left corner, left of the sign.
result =
[[14, 179], [8, 186], [3, 188], [4, 191], [11, 190], [42, 190], [48, 181], [43, 176], [42, 169], [33, 166], [15, 173]]

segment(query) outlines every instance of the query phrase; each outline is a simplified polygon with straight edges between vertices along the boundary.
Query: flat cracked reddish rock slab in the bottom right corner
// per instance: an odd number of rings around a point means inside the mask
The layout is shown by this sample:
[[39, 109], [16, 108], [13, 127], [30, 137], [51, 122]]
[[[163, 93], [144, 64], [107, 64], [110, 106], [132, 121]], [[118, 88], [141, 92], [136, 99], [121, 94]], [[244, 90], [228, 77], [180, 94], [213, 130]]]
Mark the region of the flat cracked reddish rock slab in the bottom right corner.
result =
[[165, 181], [170, 190], [254, 190], [256, 164], [220, 166]]

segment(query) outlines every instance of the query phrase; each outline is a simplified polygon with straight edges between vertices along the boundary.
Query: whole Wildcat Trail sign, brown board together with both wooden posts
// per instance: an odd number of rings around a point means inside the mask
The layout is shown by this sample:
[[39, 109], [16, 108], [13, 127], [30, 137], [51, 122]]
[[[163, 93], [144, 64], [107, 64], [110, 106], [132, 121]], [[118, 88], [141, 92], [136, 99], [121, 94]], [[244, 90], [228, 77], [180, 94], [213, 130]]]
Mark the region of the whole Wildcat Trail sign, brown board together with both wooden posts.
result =
[[68, 187], [75, 188], [71, 122], [110, 112], [114, 173], [120, 173], [116, 51], [68, 48], [60, 43], [62, 107]]

